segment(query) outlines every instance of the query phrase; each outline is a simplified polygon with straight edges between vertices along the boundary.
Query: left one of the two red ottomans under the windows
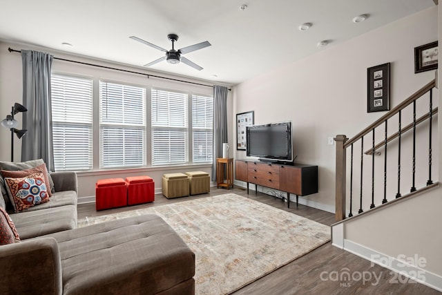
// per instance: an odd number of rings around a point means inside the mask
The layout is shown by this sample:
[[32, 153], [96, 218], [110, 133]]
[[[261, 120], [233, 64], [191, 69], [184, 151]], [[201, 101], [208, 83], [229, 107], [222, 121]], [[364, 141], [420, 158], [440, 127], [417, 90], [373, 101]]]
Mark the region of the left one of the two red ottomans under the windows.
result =
[[95, 209], [127, 206], [127, 188], [123, 178], [100, 179], [95, 184]]

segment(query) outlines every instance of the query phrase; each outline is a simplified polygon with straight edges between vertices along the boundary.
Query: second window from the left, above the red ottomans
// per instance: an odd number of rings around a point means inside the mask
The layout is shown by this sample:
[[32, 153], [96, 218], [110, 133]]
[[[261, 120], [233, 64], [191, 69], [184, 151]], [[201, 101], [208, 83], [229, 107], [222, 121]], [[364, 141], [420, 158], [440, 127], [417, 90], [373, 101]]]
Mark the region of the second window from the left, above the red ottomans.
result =
[[100, 167], [146, 165], [146, 89], [99, 83]]

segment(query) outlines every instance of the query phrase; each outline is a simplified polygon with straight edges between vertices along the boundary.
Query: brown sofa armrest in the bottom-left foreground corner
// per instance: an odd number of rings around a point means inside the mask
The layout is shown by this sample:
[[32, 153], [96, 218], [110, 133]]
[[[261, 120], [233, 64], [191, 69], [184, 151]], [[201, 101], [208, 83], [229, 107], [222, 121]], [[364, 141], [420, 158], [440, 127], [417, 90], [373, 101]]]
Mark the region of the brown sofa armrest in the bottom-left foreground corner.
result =
[[0, 246], [0, 294], [61, 294], [61, 260], [55, 238]]

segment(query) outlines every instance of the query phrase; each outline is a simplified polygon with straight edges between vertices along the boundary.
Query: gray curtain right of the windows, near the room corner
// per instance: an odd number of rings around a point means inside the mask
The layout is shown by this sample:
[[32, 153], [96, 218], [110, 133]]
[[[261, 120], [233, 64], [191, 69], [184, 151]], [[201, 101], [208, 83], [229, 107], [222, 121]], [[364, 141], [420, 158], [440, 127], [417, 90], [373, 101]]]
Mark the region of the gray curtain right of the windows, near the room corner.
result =
[[227, 93], [224, 86], [213, 86], [213, 166], [212, 181], [216, 181], [216, 158], [222, 157], [222, 143], [227, 142]]

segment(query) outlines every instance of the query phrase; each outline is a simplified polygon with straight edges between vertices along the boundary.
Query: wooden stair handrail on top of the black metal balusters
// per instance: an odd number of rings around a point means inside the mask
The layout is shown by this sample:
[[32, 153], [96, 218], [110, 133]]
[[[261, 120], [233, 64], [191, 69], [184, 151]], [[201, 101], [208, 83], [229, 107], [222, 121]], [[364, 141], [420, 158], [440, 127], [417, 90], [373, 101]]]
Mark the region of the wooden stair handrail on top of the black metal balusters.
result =
[[410, 97], [408, 97], [403, 102], [401, 102], [401, 104], [398, 104], [397, 106], [392, 108], [391, 111], [389, 111], [388, 113], [386, 113], [385, 115], [380, 117], [373, 124], [370, 124], [363, 131], [361, 131], [360, 133], [358, 133], [357, 135], [352, 137], [350, 140], [348, 140], [344, 144], [344, 149], [347, 149], [348, 146], [352, 145], [354, 142], [357, 142], [359, 139], [361, 139], [361, 137], [367, 135], [367, 133], [372, 132], [372, 130], [374, 128], [376, 128], [379, 125], [383, 124], [383, 122], [385, 122], [385, 120], [390, 119], [390, 117], [393, 117], [394, 115], [396, 115], [396, 113], [398, 113], [399, 111], [403, 110], [403, 108], [405, 108], [406, 106], [408, 106], [409, 104], [414, 102], [414, 100], [418, 99], [419, 97], [421, 97], [422, 95], [424, 95], [425, 93], [430, 91], [432, 88], [434, 88], [434, 86], [436, 86], [436, 79], [433, 79], [432, 82], [430, 82], [427, 85], [423, 86], [421, 89], [419, 89], [419, 91], [416, 91]]

